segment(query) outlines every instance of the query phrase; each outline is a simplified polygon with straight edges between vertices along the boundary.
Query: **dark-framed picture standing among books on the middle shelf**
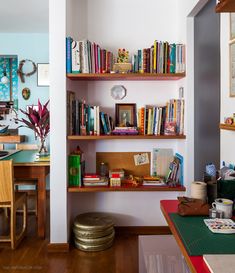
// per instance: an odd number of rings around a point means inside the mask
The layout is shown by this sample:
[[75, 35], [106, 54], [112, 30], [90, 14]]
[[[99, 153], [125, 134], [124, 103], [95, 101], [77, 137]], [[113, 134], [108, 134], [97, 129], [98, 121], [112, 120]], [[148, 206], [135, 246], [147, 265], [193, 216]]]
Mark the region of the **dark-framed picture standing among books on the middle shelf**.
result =
[[135, 103], [116, 103], [115, 105], [115, 125], [117, 127], [134, 127], [136, 123]]

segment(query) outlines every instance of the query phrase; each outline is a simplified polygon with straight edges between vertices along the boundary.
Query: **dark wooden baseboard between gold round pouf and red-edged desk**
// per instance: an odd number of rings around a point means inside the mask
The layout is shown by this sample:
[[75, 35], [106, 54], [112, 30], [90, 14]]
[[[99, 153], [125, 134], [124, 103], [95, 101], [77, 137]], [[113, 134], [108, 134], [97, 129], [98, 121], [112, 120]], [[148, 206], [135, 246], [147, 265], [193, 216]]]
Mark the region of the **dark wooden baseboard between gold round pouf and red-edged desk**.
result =
[[168, 226], [123, 226], [115, 227], [116, 234], [126, 235], [168, 235], [171, 234]]

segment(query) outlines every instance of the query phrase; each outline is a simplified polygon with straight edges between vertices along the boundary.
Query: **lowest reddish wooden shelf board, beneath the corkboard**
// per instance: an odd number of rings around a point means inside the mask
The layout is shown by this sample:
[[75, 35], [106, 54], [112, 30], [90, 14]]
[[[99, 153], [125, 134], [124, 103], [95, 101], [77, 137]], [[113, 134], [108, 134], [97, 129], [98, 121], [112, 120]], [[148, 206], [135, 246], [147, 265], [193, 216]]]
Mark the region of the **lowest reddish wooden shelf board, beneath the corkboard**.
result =
[[122, 186], [122, 187], [68, 187], [68, 192], [129, 192], [129, 191], [185, 191], [184, 186]]

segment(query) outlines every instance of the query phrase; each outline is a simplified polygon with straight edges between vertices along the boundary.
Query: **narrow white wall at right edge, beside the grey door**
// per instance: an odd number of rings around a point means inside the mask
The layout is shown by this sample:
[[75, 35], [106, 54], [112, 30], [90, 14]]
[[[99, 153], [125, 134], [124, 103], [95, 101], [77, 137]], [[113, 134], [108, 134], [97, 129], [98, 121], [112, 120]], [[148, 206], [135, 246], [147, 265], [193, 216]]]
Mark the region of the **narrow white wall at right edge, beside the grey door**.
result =
[[[235, 112], [235, 97], [229, 97], [229, 13], [220, 15], [220, 43], [221, 43], [221, 115], [220, 121], [224, 122], [224, 117], [230, 117]], [[234, 131], [220, 130], [220, 160], [226, 163], [235, 163], [234, 153]]]

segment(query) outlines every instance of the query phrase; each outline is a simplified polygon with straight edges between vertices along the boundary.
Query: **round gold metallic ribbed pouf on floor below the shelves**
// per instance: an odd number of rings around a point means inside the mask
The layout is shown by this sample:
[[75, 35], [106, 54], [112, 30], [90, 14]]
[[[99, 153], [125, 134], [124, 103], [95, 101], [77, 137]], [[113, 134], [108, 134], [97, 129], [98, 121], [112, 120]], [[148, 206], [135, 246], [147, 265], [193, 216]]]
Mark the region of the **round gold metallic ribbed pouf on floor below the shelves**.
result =
[[110, 216], [101, 212], [78, 215], [73, 225], [75, 246], [83, 251], [101, 251], [112, 246], [115, 231]]

